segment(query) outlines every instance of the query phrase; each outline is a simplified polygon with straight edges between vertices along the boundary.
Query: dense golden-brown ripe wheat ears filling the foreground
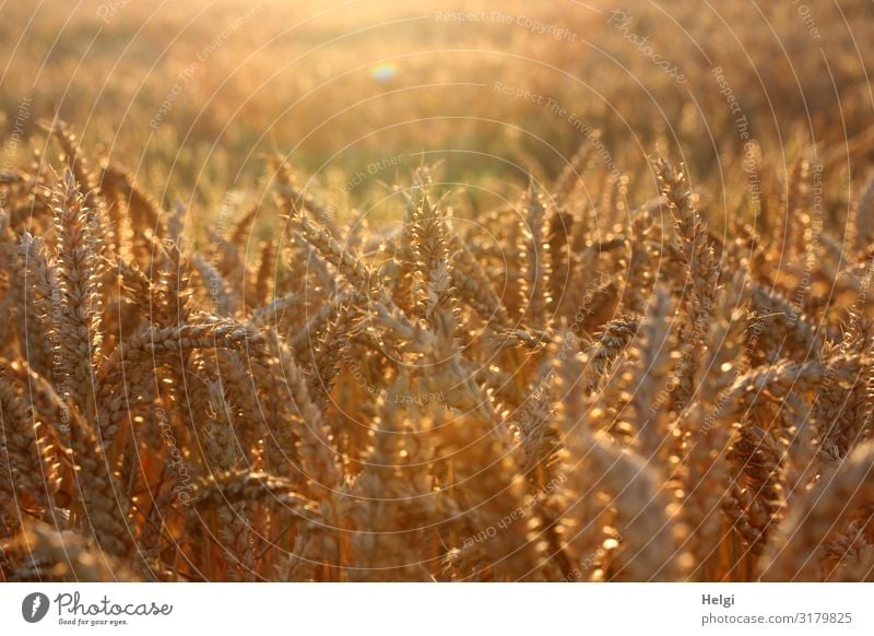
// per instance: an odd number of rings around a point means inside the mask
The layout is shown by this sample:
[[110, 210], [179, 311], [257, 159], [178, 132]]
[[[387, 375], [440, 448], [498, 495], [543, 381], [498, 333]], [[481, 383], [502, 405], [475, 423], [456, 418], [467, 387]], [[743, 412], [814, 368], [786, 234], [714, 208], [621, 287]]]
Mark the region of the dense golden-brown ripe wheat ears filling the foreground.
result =
[[277, 160], [194, 249], [49, 132], [0, 175], [5, 580], [872, 578], [870, 192], [835, 227], [799, 160], [720, 239], [587, 144], [475, 224], [422, 167], [391, 233]]

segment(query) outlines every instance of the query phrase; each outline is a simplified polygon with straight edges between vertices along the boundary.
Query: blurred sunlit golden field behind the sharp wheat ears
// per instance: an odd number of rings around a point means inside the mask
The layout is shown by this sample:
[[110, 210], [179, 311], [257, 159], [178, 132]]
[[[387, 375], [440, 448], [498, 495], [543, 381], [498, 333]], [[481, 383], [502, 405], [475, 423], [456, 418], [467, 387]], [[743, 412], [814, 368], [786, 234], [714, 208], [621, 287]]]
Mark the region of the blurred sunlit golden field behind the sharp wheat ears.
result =
[[862, 1], [11, 0], [0, 11], [8, 164], [19, 138], [44, 144], [36, 122], [58, 115], [165, 203], [208, 209], [253, 188], [275, 152], [339, 205], [378, 200], [380, 181], [423, 162], [475, 185], [474, 204], [480, 186], [555, 176], [590, 130], [604, 175], [651, 181], [638, 192], [656, 193], [646, 158], [657, 149], [712, 190], [745, 179], [739, 116], [790, 166], [801, 149], [863, 136], [874, 102]]

